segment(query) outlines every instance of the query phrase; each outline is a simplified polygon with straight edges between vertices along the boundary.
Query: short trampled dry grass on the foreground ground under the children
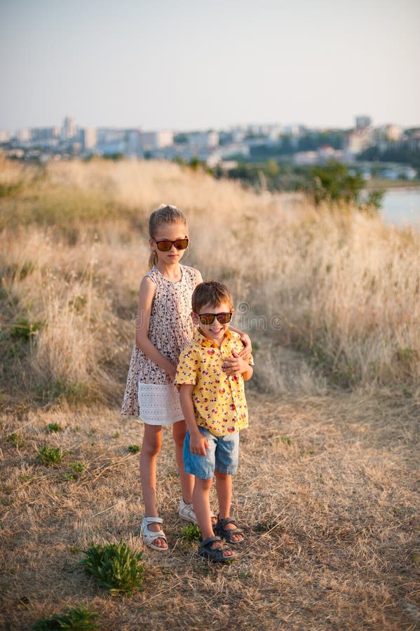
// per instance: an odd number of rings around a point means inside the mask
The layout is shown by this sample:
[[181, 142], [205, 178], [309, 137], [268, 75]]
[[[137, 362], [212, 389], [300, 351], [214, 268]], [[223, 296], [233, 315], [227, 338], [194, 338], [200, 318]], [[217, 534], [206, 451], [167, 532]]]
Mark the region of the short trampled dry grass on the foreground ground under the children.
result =
[[[29, 629], [85, 603], [104, 630], [416, 629], [418, 403], [356, 393], [248, 398], [252, 426], [242, 434], [233, 503], [247, 536], [241, 559], [210, 566], [183, 541], [165, 432], [158, 502], [170, 552], [145, 548], [146, 589], [121, 599], [95, 587], [78, 562], [90, 541], [143, 548], [138, 455], [127, 449], [141, 444], [142, 426], [118, 409], [6, 412], [4, 628]], [[48, 423], [65, 431], [48, 434]], [[7, 439], [12, 433], [21, 447]], [[57, 468], [36, 461], [46, 444], [65, 452]], [[66, 480], [72, 461], [86, 468]]]

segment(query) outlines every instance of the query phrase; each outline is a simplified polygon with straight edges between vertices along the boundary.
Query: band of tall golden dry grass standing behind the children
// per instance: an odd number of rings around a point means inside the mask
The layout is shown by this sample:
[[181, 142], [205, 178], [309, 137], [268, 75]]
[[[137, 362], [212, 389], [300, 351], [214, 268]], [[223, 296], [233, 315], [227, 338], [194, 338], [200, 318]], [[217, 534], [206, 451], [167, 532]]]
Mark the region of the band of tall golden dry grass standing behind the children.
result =
[[[229, 284], [236, 325], [259, 346], [259, 388], [400, 384], [420, 376], [420, 235], [351, 208], [257, 194], [172, 163], [92, 161], [22, 168], [3, 161], [0, 344], [19, 319], [41, 323], [12, 374], [69, 393], [121, 396], [147, 217], [176, 203], [189, 217], [184, 262]], [[280, 347], [307, 361], [287, 374]], [[284, 353], [284, 351], [282, 351]], [[286, 376], [285, 376], [286, 372]], [[41, 377], [43, 379], [41, 379]], [[39, 381], [39, 379], [41, 379]], [[43, 385], [44, 384], [44, 385]]]

